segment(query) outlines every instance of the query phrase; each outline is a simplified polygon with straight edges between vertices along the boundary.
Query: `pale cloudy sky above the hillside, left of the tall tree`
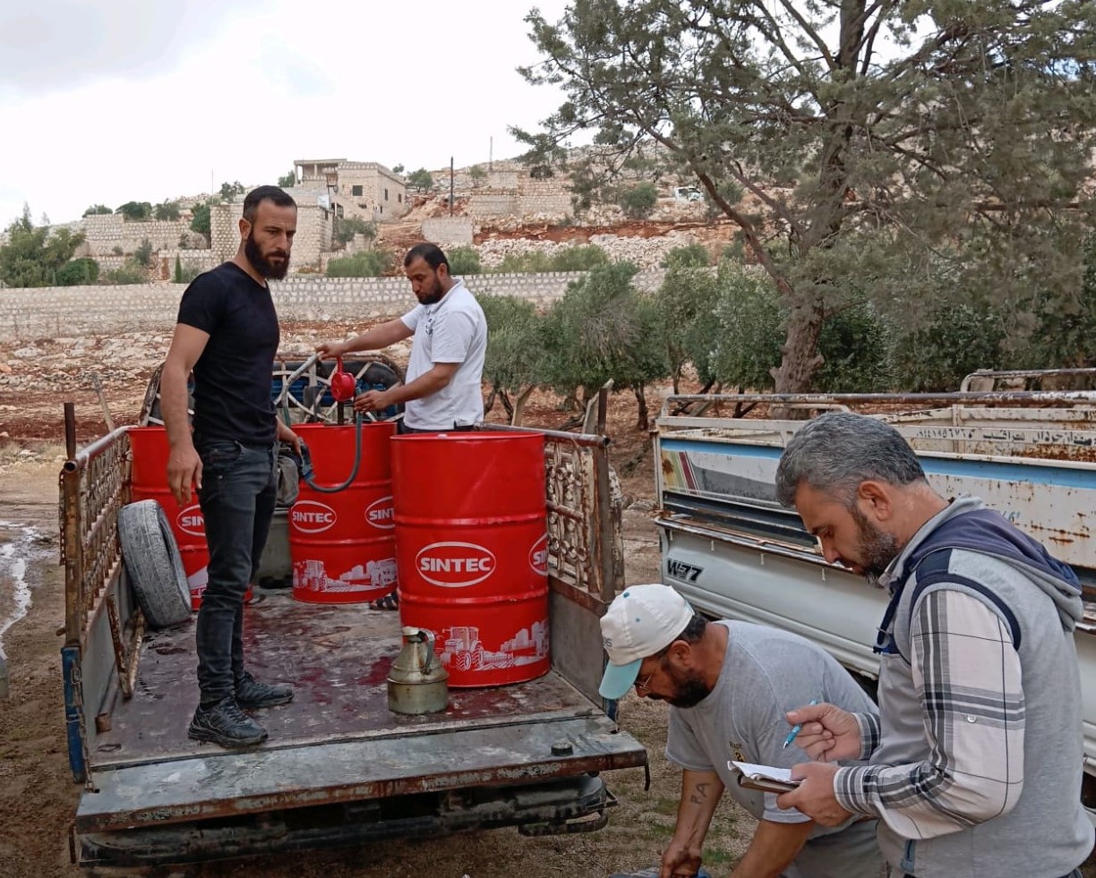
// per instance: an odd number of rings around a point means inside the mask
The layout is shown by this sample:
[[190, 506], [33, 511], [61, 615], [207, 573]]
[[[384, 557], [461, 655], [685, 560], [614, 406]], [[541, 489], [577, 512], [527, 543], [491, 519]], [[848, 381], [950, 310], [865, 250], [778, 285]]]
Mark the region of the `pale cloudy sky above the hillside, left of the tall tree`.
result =
[[409, 171], [522, 151], [560, 93], [515, 71], [567, 0], [0, 3], [0, 228], [156, 204], [294, 159]]

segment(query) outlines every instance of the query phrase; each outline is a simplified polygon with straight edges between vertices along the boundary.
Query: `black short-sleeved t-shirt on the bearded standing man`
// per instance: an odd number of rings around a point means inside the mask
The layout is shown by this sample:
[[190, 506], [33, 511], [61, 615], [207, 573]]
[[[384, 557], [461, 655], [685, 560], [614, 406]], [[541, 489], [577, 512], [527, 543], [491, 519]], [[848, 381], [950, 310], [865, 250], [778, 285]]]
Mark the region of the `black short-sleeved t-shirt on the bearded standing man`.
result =
[[239, 265], [221, 263], [186, 287], [179, 322], [209, 333], [194, 364], [195, 435], [273, 444], [271, 368], [281, 337], [270, 288]]

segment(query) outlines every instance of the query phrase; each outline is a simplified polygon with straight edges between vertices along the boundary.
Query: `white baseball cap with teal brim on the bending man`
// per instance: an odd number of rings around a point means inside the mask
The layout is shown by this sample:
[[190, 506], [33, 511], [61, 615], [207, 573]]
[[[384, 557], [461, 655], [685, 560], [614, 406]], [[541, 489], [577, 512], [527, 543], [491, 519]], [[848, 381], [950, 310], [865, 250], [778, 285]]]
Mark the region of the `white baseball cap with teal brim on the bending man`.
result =
[[639, 665], [665, 649], [693, 619], [693, 607], [669, 585], [631, 585], [602, 616], [602, 643], [609, 663], [597, 691], [615, 700], [636, 683]]

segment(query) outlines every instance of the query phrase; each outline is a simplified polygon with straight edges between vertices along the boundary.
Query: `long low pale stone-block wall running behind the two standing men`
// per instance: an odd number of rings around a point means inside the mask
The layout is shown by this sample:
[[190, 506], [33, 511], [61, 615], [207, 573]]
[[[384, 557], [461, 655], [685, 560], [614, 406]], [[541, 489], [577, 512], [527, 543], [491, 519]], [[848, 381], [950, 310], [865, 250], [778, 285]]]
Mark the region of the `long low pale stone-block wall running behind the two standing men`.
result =
[[[477, 295], [517, 296], [538, 304], [562, 297], [582, 272], [476, 274], [466, 283]], [[655, 289], [663, 272], [636, 275]], [[184, 287], [180, 284], [69, 286], [0, 289], [0, 341], [112, 332], [170, 332]], [[272, 284], [284, 321], [397, 316], [414, 306], [403, 277], [288, 277]]]

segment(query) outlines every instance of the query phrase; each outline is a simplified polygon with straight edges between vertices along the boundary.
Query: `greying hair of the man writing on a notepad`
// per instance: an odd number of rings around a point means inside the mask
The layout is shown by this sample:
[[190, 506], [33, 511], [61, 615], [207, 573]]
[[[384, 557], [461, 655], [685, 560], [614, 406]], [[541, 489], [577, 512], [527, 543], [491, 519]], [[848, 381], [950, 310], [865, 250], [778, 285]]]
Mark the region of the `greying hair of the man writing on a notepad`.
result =
[[784, 449], [776, 499], [794, 505], [806, 482], [852, 506], [856, 489], [868, 479], [895, 486], [926, 481], [913, 448], [893, 426], [863, 414], [829, 412], [801, 427]]

